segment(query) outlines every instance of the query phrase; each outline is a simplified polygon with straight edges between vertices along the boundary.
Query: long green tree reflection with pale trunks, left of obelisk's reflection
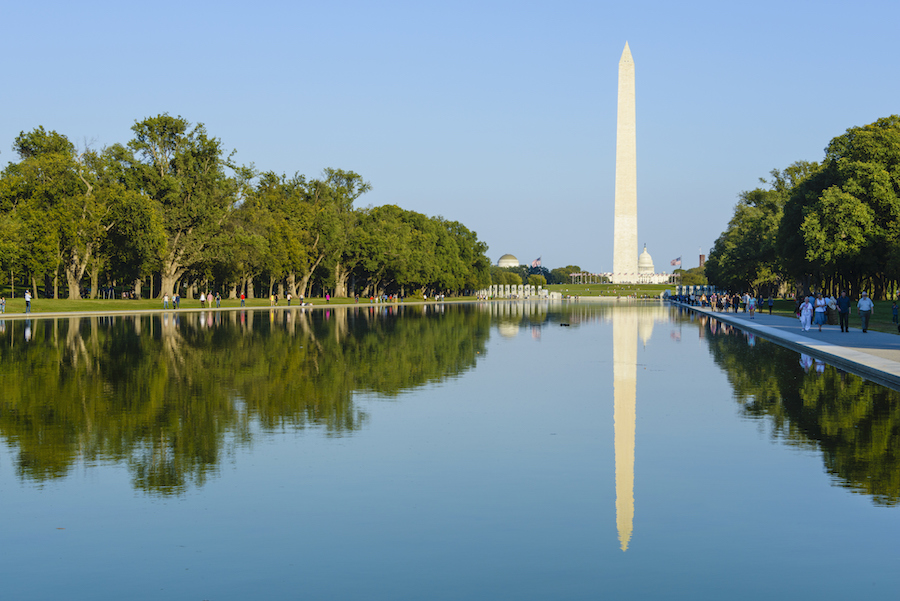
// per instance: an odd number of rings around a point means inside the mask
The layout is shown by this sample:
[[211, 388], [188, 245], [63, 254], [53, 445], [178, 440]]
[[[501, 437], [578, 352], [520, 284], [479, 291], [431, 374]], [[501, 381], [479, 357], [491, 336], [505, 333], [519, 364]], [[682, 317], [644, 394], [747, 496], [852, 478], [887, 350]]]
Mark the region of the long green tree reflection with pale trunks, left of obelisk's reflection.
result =
[[359, 429], [354, 393], [393, 396], [468, 370], [489, 329], [474, 307], [6, 321], [0, 435], [25, 480], [112, 461], [139, 489], [180, 494], [254, 427]]

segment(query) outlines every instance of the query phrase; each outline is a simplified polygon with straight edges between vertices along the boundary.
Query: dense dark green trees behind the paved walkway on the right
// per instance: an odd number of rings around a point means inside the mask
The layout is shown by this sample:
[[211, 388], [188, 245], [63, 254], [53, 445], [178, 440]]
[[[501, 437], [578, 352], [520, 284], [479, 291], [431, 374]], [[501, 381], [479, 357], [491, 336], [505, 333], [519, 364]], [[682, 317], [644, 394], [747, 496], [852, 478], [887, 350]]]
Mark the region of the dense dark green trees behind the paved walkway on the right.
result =
[[772, 292], [847, 289], [893, 297], [900, 283], [900, 116], [851, 127], [820, 163], [797, 161], [741, 192], [709, 253], [710, 283]]

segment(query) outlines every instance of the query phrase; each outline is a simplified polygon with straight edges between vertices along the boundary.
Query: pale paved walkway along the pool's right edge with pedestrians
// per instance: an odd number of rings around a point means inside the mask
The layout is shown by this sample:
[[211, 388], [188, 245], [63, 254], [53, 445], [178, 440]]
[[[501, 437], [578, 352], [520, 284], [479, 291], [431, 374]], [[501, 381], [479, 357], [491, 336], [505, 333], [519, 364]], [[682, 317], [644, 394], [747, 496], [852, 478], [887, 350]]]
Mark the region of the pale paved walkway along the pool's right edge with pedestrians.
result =
[[872, 330], [863, 333], [859, 327], [859, 316], [855, 313], [850, 316], [849, 332], [841, 332], [840, 326], [828, 325], [822, 326], [821, 332], [816, 325], [804, 332], [799, 319], [782, 315], [763, 312], [750, 319], [749, 313], [720, 313], [681, 303], [672, 304], [714, 316], [720, 321], [900, 390], [900, 335]]

